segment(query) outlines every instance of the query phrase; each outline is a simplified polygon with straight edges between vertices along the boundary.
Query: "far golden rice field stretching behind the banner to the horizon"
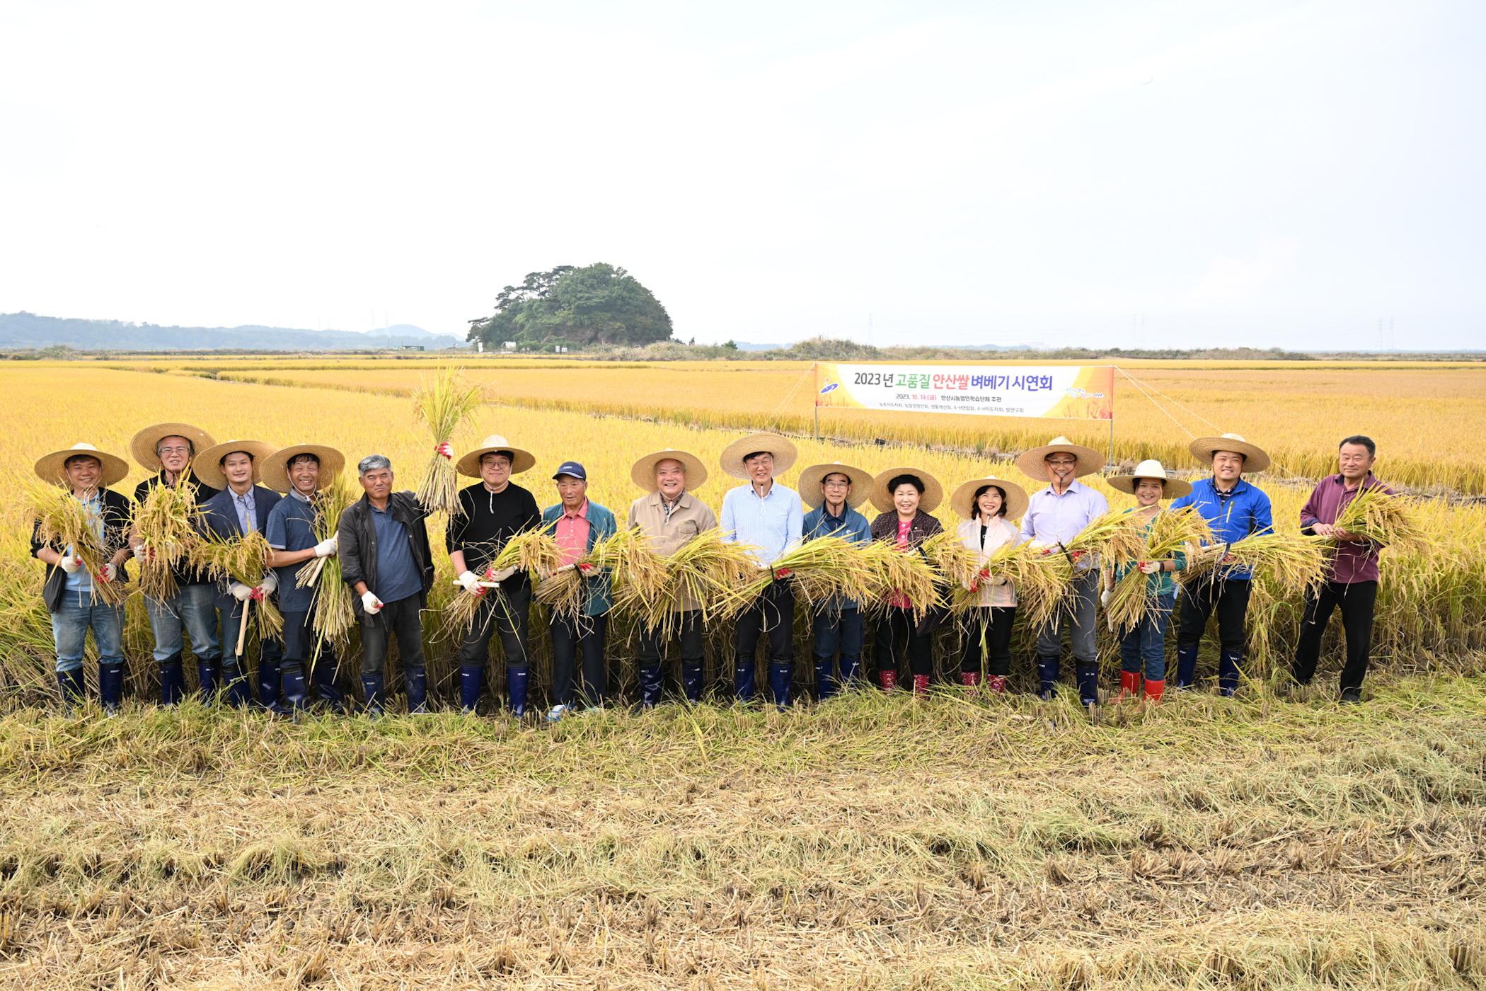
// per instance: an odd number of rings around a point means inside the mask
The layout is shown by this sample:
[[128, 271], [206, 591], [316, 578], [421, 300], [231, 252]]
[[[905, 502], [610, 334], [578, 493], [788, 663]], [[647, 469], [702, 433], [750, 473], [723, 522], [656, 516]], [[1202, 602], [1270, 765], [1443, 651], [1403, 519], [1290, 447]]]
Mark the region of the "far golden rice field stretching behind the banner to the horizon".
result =
[[[473, 377], [511, 404], [718, 428], [813, 431], [808, 363], [635, 365], [473, 358], [468, 364]], [[432, 363], [193, 360], [138, 367], [406, 395]], [[1192, 468], [1187, 431], [1235, 432], [1271, 452], [1282, 467], [1275, 474], [1318, 477], [1333, 471], [1336, 443], [1363, 432], [1378, 441], [1395, 483], [1486, 495], [1486, 452], [1459, 443], [1461, 437], [1486, 435], [1486, 365], [1129, 361], [1120, 367], [1141, 385], [1116, 373], [1116, 462], [1161, 458], [1168, 467]], [[892, 413], [823, 410], [820, 429], [844, 440], [1016, 452], [1045, 443], [1049, 425], [950, 415], [905, 422]], [[1109, 447], [1107, 423], [1060, 420], [1052, 429], [1098, 450]]]

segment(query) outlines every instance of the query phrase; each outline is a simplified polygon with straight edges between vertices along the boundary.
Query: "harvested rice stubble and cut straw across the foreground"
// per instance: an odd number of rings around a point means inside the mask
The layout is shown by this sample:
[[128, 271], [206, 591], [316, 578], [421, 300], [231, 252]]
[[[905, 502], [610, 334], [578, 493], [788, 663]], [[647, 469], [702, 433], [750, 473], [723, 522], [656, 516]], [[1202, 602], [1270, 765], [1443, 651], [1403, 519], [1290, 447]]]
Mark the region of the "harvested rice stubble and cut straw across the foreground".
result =
[[1486, 691], [0, 718], [7, 987], [1479, 987]]

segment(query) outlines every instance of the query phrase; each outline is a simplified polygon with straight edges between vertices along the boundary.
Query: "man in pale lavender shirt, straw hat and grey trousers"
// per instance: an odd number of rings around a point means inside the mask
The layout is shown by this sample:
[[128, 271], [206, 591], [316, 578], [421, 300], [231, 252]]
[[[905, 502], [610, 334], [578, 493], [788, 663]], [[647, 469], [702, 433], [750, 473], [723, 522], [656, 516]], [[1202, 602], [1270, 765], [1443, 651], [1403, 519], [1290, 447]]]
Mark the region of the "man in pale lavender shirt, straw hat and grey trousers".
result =
[[[1092, 520], [1109, 513], [1109, 499], [1077, 481], [1079, 475], [1092, 474], [1103, 464], [1100, 452], [1073, 444], [1067, 437], [1022, 453], [1016, 459], [1021, 472], [1048, 483], [1027, 504], [1022, 539], [1042, 545], [1045, 554], [1067, 554], [1064, 545]], [[1060, 611], [1037, 631], [1037, 678], [1043, 698], [1057, 695], [1062, 628], [1068, 627], [1073, 663], [1079, 669], [1079, 701], [1094, 706], [1100, 700], [1100, 657], [1094, 645], [1098, 634], [1100, 571], [1092, 560], [1074, 560], [1073, 566], [1077, 578], [1073, 579], [1070, 608]]]

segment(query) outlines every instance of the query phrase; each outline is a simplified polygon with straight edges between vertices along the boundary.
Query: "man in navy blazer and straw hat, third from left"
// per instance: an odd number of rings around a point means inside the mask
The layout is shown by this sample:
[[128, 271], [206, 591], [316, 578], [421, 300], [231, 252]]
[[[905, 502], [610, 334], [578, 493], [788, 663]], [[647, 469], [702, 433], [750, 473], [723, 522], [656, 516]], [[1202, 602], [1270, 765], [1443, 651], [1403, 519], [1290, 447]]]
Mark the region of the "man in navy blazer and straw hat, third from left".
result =
[[[278, 505], [279, 493], [259, 484], [263, 459], [278, 450], [262, 440], [229, 440], [201, 452], [193, 465], [196, 475], [220, 489], [201, 507], [202, 524], [217, 538], [229, 539], [256, 530], [265, 533], [269, 513]], [[242, 657], [238, 655], [238, 631], [250, 608], [248, 600], [263, 602], [278, 588], [278, 578], [265, 569], [263, 584], [250, 588], [230, 578], [217, 581], [217, 615], [221, 618], [221, 683], [227, 689], [227, 704], [241, 709], [253, 701]], [[276, 639], [259, 645], [259, 704], [273, 709], [279, 695], [279, 660], [284, 645]]]

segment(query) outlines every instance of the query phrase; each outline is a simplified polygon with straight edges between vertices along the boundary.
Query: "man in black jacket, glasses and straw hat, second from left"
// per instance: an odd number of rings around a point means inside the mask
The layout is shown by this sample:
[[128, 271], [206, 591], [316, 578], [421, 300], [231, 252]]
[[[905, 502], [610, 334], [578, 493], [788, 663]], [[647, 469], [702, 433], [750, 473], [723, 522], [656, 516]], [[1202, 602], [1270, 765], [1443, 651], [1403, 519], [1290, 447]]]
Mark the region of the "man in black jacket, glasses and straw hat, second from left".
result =
[[[190, 462], [199, 450], [207, 450], [217, 441], [211, 434], [190, 423], [156, 423], [146, 426], [129, 441], [134, 461], [153, 471], [134, 489], [134, 501], [144, 505], [158, 486], [177, 483], [190, 486], [196, 493], [196, 505], [205, 505], [217, 495], [202, 481]], [[138, 530], [131, 532], [129, 542], [134, 556], [149, 557], [156, 548], [146, 545]], [[212, 602], [214, 588], [205, 571], [184, 560], [172, 571], [175, 594], [169, 599], [144, 599], [144, 611], [150, 617], [150, 633], [155, 634], [155, 663], [160, 666], [160, 704], [174, 706], [186, 694], [181, 675], [181, 654], [186, 651], [184, 634], [190, 636], [190, 649], [196, 655], [196, 675], [201, 680], [201, 697], [212, 695], [217, 664], [221, 651], [217, 648], [217, 608]]]

